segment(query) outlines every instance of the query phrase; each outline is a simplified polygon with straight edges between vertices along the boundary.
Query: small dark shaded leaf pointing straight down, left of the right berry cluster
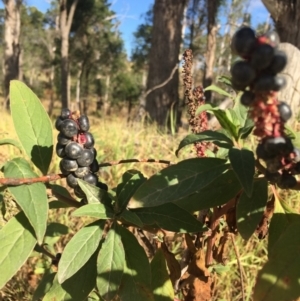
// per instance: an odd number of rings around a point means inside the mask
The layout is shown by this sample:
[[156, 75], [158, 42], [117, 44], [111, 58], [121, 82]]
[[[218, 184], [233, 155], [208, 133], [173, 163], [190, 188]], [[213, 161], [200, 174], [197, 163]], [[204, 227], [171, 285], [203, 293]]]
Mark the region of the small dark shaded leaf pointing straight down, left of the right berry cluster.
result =
[[229, 160], [233, 171], [250, 197], [253, 188], [253, 177], [255, 172], [255, 158], [252, 151], [247, 149], [231, 148]]

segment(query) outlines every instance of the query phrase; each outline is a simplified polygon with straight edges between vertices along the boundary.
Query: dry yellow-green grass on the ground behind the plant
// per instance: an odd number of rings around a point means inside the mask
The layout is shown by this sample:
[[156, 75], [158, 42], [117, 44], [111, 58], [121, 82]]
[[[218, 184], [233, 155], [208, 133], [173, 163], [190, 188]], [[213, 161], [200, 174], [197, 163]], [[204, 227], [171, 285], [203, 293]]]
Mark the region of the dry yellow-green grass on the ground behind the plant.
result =
[[[128, 127], [125, 118], [100, 119], [91, 117], [90, 119], [91, 132], [96, 140], [99, 162], [129, 158], [152, 158], [177, 162], [183, 158], [194, 156], [193, 149], [188, 147], [180, 153], [179, 158], [175, 156], [178, 143], [186, 135], [184, 131], [172, 136], [159, 132], [155, 127], [145, 128], [139, 124]], [[12, 128], [10, 116], [1, 113], [0, 139], [16, 138]], [[54, 139], [56, 139], [56, 136], [57, 131], [54, 130]], [[13, 146], [1, 146], [0, 165], [17, 156], [20, 156], [20, 152]], [[57, 159], [53, 159], [51, 172], [59, 172], [58, 163]], [[146, 176], [151, 176], [163, 167], [164, 165], [157, 163], [130, 163], [105, 167], [101, 169], [100, 180], [107, 183], [109, 187], [115, 187], [122, 174], [128, 169], [138, 169]], [[61, 181], [59, 184], [65, 185], [65, 182]], [[291, 205], [294, 205], [299, 200], [296, 194], [284, 192], [283, 196], [289, 200]], [[62, 251], [66, 241], [77, 228], [82, 226], [82, 221], [70, 218], [70, 210], [51, 211], [49, 221], [60, 222], [70, 227], [68, 235], [52, 242], [56, 252]], [[254, 236], [248, 242], [245, 242], [240, 237], [237, 237], [235, 243], [243, 267], [243, 275], [241, 276], [238, 269], [233, 246], [229, 244], [227, 262], [227, 267], [229, 268], [225, 273], [216, 276], [214, 297], [212, 299], [214, 301], [242, 300], [241, 283], [246, 291], [246, 300], [252, 300], [251, 292], [255, 284], [255, 276], [266, 261], [266, 241], [260, 241]], [[49, 264], [49, 260], [44, 257], [30, 258], [21, 271], [0, 291], [0, 300], [31, 300], [32, 292], [40, 278], [39, 273], [43, 272], [44, 268], [49, 266]]]

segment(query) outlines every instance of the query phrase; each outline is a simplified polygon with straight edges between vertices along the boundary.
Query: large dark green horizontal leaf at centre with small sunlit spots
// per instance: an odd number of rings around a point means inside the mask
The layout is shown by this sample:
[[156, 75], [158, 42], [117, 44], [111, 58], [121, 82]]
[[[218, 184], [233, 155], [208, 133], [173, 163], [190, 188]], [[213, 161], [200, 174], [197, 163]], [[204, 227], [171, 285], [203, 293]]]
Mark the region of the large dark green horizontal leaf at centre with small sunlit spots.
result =
[[225, 162], [216, 158], [193, 158], [171, 165], [143, 183], [128, 207], [153, 207], [184, 198], [222, 174], [228, 168]]

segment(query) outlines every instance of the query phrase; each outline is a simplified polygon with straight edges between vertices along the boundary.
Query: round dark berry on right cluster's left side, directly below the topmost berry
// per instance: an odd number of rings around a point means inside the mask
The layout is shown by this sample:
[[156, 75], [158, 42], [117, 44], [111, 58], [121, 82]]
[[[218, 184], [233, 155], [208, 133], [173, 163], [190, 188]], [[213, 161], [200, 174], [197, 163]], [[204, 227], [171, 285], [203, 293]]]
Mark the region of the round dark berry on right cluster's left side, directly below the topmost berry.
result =
[[255, 70], [251, 65], [246, 61], [237, 61], [235, 62], [231, 69], [232, 82], [237, 85], [243, 85], [247, 87], [255, 78]]

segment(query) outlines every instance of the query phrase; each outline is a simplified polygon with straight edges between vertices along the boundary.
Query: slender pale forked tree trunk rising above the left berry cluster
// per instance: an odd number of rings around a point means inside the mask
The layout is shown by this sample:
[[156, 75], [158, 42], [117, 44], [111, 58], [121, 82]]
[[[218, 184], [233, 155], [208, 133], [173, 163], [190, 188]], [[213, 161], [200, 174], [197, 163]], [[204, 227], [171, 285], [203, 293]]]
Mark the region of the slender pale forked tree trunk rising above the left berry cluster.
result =
[[79, 0], [73, 0], [70, 10], [67, 10], [67, 0], [59, 0], [60, 15], [59, 28], [61, 37], [61, 102], [62, 107], [69, 106], [69, 34], [74, 17], [74, 12]]

